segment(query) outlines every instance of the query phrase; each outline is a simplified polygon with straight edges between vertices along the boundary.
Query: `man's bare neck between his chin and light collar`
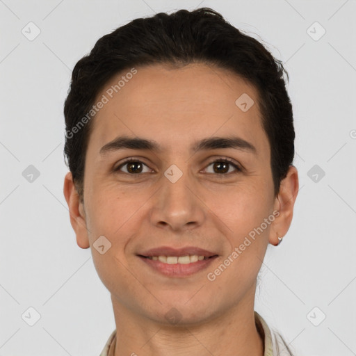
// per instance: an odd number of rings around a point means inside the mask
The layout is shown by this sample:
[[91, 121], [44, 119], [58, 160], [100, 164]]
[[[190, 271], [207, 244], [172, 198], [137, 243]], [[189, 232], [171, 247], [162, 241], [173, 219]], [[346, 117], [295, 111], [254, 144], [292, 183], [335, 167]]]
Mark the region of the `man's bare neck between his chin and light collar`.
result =
[[156, 323], [112, 300], [116, 337], [109, 356], [264, 355], [253, 303], [230, 308], [204, 323], [178, 326]]

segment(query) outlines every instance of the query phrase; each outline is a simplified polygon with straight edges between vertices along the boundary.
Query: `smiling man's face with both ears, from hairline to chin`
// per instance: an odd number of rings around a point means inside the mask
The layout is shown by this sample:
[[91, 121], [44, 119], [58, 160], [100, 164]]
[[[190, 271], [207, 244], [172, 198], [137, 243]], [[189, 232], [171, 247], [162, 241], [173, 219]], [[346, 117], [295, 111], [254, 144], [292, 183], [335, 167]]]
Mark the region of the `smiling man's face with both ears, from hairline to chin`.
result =
[[[202, 64], [136, 70], [97, 96], [108, 100], [92, 119], [83, 206], [66, 177], [77, 242], [114, 308], [140, 318], [200, 323], [251, 306], [267, 245], [291, 222], [273, 195], [257, 91]], [[293, 177], [284, 192], [296, 193]]]

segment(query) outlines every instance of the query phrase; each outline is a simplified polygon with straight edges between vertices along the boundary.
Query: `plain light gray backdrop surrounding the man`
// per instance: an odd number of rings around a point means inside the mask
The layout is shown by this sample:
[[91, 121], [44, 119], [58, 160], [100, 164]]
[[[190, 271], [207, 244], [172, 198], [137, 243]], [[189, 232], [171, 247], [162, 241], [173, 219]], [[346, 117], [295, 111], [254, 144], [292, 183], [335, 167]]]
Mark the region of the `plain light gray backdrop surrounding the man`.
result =
[[0, 0], [0, 355], [102, 351], [111, 300], [63, 196], [71, 70], [133, 18], [202, 6], [264, 41], [290, 75], [300, 192], [283, 243], [268, 247], [255, 309], [299, 355], [356, 355], [354, 0]]

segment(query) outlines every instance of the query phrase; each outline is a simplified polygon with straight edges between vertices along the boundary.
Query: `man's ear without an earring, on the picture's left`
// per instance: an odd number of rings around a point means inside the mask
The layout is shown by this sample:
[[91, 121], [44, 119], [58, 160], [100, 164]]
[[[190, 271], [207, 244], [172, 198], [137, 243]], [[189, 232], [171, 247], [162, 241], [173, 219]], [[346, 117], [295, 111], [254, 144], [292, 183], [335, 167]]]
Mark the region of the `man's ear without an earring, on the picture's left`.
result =
[[86, 214], [79, 194], [74, 186], [72, 173], [65, 175], [63, 193], [70, 210], [70, 223], [76, 234], [76, 243], [80, 248], [89, 248], [88, 229], [86, 227]]

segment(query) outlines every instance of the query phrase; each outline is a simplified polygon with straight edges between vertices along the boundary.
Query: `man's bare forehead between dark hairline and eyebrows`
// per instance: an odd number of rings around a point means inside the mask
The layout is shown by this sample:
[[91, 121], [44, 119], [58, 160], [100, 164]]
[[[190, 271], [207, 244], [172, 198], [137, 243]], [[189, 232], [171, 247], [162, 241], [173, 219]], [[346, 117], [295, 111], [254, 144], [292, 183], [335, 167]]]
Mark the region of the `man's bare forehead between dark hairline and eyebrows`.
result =
[[[128, 73], [113, 76], [97, 95], [96, 102], [105, 97], [106, 104], [92, 122], [89, 147], [96, 152], [119, 134], [154, 138], [169, 150], [172, 142], [188, 147], [198, 138], [234, 133], [268, 149], [257, 91], [236, 74], [202, 64], [150, 65]], [[236, 104], [240, 97], [254, 103], [248, 111], [238, 106], [241, 100]]]

